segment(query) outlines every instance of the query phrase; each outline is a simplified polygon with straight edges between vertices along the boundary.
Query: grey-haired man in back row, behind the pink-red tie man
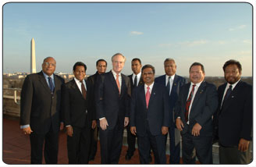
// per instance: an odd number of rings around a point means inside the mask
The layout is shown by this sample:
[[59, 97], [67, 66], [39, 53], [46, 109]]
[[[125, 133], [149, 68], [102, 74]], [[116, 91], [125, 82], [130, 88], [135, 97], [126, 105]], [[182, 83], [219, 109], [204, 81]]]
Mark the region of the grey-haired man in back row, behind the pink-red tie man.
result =
[[180, 163], [180, 131], [175, 128], [174, 120], [174, 107], [180, 89], [183, 84], [187, 84], [187, 80], [182, 76], [176, 74], [176, 63], [174, 59], [165, 59], [165, 75], [158, 76], [155, 79], [155, 83], [162, 84], [166, 87], [167, 92], [169, 93], [169, 103], [170, 103], [170, 112], [171, 112], [171, 124], [169, 127], [169, 146], [170, 146], [170, 164], [179, 164]]

